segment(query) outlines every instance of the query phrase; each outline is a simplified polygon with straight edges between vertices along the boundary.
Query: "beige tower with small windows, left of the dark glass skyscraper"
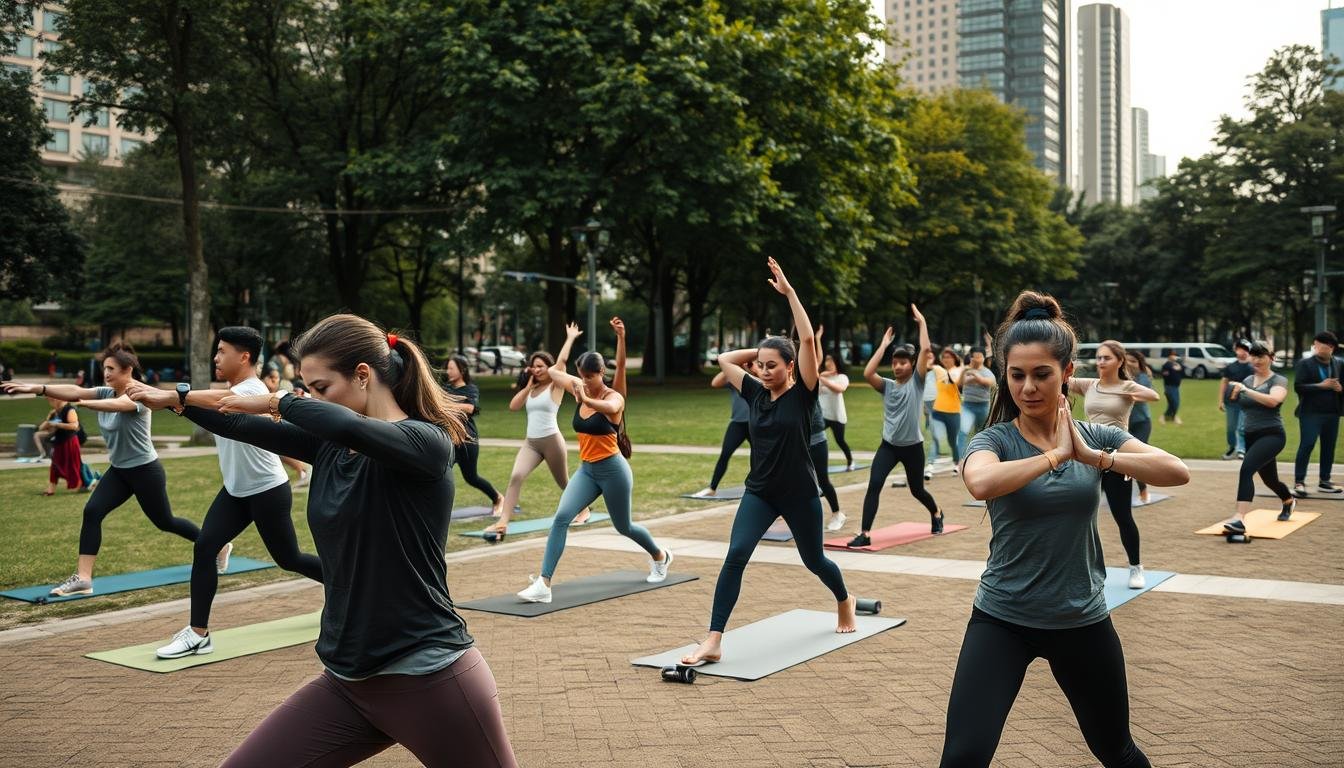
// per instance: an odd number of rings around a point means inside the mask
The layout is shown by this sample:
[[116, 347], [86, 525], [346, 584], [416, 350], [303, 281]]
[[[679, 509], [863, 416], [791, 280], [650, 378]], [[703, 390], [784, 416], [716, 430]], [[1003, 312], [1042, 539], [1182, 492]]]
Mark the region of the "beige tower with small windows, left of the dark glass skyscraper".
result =
[[887, 28], [906, 44], [887, 46], [906, 82], [923, 93], [957, 85], [957, 0], [886, 0]]

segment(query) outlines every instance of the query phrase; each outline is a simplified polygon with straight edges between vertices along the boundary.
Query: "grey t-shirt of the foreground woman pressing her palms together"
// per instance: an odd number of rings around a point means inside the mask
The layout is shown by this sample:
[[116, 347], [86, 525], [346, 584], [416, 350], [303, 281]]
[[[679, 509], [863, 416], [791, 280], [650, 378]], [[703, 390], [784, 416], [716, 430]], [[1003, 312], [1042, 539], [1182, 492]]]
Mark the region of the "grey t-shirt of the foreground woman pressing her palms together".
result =
[[[1118, 449], [1130, 437], [1118, 428], [1078, 422], [1097, 449]], [[966, 455], [989, 451], [1001, 461], [1039, 456], [1009, 422], [985, 428]], [[1031, 483], [989, 499], [989, 560], [980, 577], [976, 608], [1038, 629], [1086, 627], [1106, 617], [1106, 564], [1097, 534], [1101, 471], [1064, 461]]]

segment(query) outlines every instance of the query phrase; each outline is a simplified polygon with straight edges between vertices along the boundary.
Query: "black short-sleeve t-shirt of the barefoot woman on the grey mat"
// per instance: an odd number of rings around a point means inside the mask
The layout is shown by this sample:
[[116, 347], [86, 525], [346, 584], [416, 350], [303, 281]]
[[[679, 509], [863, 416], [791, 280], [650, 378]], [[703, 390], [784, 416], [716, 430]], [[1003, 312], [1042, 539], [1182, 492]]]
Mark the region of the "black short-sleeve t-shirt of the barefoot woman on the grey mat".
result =
[[[821, 386], [821, 385], [817, 385]], [[770, 500], [805, 499], [817, 495], [817, 473], [808, 445], [817, 390], [802, 378], [770, 399], [770, 390], [755, 377], [742, 377], [742, 399], [751, 410], [751, 472], [746, 490]]]

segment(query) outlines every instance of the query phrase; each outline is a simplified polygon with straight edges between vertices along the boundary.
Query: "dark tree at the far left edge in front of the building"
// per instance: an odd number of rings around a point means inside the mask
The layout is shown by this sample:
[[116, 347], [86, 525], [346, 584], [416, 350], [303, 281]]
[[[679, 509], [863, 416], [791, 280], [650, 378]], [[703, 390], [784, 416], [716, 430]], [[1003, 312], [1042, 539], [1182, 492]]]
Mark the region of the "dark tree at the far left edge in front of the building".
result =
[[[0, 54], [12, 54], [35, 3], [0, 5]], [[32, 73], [0, 66], [0, 299], [78, 293], [85, 243], [70, 225], [39, 151], [50, 137]]]

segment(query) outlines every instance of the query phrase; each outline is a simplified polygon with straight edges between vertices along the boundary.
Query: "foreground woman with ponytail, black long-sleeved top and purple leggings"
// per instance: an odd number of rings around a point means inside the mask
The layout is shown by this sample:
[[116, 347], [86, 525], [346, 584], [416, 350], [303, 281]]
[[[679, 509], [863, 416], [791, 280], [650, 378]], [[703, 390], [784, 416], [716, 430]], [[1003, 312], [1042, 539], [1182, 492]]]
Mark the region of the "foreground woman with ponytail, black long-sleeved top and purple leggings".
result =
[[298, 689], [224, 761], [351, 765], [402, 744], [426, 765], [515, 765], [495, 677], [453, 607], [444, 550], [462, 410], [414, 343], [332, 315], [296, 343], [312, 398], [187, 406], [211, 432], [313, 467], [321, 561], [317, 656]]

